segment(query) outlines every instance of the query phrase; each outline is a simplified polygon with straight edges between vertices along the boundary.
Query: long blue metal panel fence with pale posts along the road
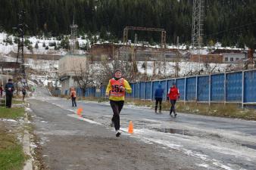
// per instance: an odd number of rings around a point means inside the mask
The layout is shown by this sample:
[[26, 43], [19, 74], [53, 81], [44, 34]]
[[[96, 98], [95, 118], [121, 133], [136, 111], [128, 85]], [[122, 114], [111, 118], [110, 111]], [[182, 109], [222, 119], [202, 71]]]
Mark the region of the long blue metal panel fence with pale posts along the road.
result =
[[[180, 100], [238, 103], [242, 106], [256, 104], [256, 70], [190, 76], [154, 82], [134, 82], [130, 83], [133, 93], [127, 94], [126, 97], [153, 100], [155, 89], [161, 83], [164, 88], [165, 100], [173, 82], [176, 82], [176, 86], [179, 88]], [[101, 87], [100, 95], [101, 97], [105, 96], [105, 86]], [[85, 96], [95, 96], [95, 88], [88, 88]]]

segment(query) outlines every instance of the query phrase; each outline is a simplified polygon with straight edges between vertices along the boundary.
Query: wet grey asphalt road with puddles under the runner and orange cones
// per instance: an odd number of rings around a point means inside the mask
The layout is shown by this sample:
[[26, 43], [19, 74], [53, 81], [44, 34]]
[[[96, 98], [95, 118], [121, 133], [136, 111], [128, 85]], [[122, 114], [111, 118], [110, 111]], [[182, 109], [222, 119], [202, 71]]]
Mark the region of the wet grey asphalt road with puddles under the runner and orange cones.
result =
[[[108, 103], [78, 101], [83, 108], [80, 119], [70, 100], [49, 97], [45, 89], [36, 92], [37, 100], [30, 100], [30, 106], [50, 169], [256, 169], [254, 121], [182, 113], [174, 119], [167, 113], [126, 106], [120, 116], [123, 134], [115, 138]], [[132, 135], [126, 133], [130, 121]], [[93, 144], [87, 146], [88, 142]], [[76, 148], [76, 144], [86, 147]], [[64, 149], [70, 147], [74, 149]], [[76, 162], [78, 155], [83, 162]], [[102, 155], [109, 159], [99, 165], [95, 160]], [[114, 164], [117, 157], [123, 166]], [[62, 166], [63, 159], [67, 165]]]

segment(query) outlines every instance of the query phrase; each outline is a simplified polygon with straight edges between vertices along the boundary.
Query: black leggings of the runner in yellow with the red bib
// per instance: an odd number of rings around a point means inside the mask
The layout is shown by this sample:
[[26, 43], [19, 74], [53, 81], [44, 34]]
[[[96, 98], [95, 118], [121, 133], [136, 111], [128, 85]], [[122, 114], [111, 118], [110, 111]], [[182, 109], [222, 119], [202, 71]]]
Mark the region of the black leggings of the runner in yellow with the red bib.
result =
[[117, 130], [120, 129], [120, 112], [123, 108], [123, 100], [120, 101], [115, 101], [115, 100], [110, 100], [111, 102], [111, 107], [113, 110], [113, 117], [112, 117], [112, 122], [114, 122], [114, 128]]

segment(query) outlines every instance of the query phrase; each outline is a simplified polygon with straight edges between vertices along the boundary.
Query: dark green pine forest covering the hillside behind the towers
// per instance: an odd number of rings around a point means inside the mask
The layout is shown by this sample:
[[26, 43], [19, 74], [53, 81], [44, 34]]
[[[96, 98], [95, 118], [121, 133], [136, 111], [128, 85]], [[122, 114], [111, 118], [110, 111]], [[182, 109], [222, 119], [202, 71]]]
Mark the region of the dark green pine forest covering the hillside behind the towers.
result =
[[[250, 44], [256, 37], [255, 8], [254, 0], [205, 0], [204, 42], [213, 39], [229, 45]], [[122, 39], [125, 26], [145, 26], [164, 28], [167, 42], [176, 36], [181, 43], [191, 42], [192, 0], [1, 0], [0, 31], [14, 33], [21, 9], [26, 11], [27, 35], [67, 35], [75, 11], [80, 33], [99, 33], [101, 39], [110, 39], [106, 32], [111, 32], [117, 41]], [[133, 39], [132, 33], [129, 39]], [[140, 41], [151, 39], [156, 41], [159, 34], [139, 32]]]

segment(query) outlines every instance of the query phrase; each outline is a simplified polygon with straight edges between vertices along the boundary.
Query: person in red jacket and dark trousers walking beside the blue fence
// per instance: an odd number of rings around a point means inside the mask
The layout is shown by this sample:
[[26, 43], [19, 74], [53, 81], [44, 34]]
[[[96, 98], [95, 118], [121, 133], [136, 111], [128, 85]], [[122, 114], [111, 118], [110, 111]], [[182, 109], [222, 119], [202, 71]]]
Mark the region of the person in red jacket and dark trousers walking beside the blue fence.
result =
[[176, 117], [177, 114], [175, 111], [175, 104], [176, 104], [176, 100], [180, 97], [180, 92], [179, 92], [179, 89], [176, 88], [175, 82], [173, 82], [173, 86], [169, 89], [167, 97], [169, 97], [170, 104], [171, 104], [170, 116], [172, 113], [174, 113], [174, 116]]

